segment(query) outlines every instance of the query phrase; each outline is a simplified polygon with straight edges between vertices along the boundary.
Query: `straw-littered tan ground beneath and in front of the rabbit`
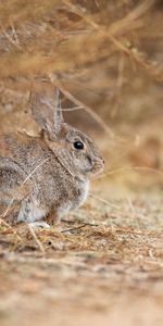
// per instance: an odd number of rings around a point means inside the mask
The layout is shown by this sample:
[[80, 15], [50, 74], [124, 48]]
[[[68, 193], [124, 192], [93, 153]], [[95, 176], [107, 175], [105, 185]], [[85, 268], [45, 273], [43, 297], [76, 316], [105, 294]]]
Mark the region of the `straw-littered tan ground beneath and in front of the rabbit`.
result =
[[159, 195], [103, 203], [96, 188], [62, 233], [1, 225], [1, 325], [162, 325], [161, 209]]

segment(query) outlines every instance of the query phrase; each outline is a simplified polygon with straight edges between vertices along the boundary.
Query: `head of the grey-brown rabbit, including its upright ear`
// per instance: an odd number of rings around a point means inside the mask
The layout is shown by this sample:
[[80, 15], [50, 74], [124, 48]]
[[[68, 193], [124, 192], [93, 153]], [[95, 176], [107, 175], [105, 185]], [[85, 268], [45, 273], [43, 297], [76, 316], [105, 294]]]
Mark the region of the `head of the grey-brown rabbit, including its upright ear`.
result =
[[35, 91], [30, 104], [45, 141], [71, 174], [89, 177], [103, 171], [104, 161], [93, 140], [64, 122], [58, 89]]

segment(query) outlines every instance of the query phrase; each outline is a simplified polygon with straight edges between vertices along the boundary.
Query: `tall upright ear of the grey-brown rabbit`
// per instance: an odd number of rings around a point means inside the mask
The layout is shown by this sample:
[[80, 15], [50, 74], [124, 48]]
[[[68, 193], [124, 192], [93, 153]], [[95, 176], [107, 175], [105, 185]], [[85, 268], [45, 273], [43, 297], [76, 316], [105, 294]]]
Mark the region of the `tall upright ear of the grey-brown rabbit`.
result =
[[30, 110], [36, 123], [50, 140], [55, 140], [63, 124], [59, 89], [37, 89], [30, 93]]

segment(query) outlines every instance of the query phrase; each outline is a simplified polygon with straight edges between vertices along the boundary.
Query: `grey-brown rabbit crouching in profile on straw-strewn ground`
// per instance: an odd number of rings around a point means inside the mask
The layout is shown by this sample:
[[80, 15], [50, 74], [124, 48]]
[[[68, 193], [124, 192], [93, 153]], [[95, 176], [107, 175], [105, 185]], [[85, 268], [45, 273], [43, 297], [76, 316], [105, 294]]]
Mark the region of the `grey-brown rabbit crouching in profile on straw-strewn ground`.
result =
[[64, 122], [58, 88], [33, 91], [30, 112], [39, 135], [0, 137], [0, 204], [18, 206], [9, 220], [2, 215], [10, 223], [48, 227], [86, 201], [104, 161], [93, 140]]

